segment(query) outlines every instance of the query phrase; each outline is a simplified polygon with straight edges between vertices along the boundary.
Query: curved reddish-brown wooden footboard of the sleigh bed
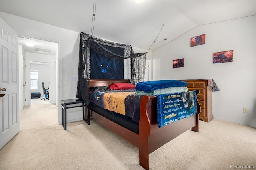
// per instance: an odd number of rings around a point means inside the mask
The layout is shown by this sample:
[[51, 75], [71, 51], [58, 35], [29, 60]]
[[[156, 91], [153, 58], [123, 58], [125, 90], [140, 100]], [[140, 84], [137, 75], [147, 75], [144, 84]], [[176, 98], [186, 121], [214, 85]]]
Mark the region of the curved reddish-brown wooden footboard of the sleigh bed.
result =
[[[199, 92], [198, 92], [199, 93]], [[197, 93], [197, 94], [198, 94]], [[190, 128], [198, 131], [200, 105], [197, 102], [197, 113], [186, 119], [170, 123], [161, 128], [156, 120], [156, 97], [144, 96], [140, 103], [139, 154], [140, 165], [149, 169], [149, 154], [170, 142]]]

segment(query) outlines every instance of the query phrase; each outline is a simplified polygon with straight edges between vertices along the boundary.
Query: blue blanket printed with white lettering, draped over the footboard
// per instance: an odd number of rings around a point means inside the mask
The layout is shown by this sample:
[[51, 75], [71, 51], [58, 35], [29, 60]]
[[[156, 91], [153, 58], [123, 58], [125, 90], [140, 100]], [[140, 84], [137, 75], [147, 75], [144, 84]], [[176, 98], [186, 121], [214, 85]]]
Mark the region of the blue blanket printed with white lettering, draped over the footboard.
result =
[[158, 127], [196, 114], [196, 91], [160, 94], [156, 98]]

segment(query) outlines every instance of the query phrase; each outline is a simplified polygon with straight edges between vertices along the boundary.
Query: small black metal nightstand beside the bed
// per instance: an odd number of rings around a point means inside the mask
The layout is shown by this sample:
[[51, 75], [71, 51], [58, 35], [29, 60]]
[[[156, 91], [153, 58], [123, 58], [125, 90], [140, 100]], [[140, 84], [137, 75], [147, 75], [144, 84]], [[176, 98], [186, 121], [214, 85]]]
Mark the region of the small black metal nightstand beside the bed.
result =
[[[75, 107], [83, 107], [83, 120], [90, 125], [90, 109], [87, 107], [84, 101], [76, 101], [76, 99], [67, 99], [67, 100], [61, 100], [61, 123], [64, 128], [64, 130], [67, 130], [67, 109], [75, 108]], [[74, 104], [82, 104], [77, 106], [70, 106], [67, 107], [67, 105], [74, 105]], [[88, 114], [87, 111], [84, 111], [85, 108], [88, 108]], [[86, 115], [87, 120], [86, 120]]]

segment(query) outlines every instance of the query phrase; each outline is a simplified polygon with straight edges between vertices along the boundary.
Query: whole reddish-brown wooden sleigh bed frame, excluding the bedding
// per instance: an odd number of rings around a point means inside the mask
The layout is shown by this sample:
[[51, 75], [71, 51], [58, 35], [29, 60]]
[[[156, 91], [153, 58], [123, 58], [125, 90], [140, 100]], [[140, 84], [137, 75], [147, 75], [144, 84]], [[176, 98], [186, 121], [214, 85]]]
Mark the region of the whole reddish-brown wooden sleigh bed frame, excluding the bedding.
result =
[[[107, 86], [112, 83], [125, 82], [130, 83], [129, 79], [90, 79], [90, 86]], [[197, 94], [199, 91], [197, 91]], [[139, 148], [140, 165], [146, 170], [149, 169], [149, 154], [176, 138], [180, 134], [191, 128], [192, 131], [199, 132], [200, 105], [197, 102], [197, 113], [191, 117], [181, 119], [177, 122], [170, 123], [161, 128], [158, 128], [156, 120], [156, 97], [144, 96], [140, 102], [140, 121], [139, 134], [128, 130], [127, 128], [118, 125], [117, 123], [97, 114], [90, 110], [91, 117], [112, 130], [128, 142]]]

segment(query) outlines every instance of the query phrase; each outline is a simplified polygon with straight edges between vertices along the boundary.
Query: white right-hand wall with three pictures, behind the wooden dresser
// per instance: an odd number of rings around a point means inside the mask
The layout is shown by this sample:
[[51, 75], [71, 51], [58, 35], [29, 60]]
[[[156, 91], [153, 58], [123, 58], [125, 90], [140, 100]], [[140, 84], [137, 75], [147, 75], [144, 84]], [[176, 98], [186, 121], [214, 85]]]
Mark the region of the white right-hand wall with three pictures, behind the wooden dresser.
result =
[[[190, 47], [190, 38], [206, 43]], [[256, 16], [198, 26], [152, 53], [153, 79], [214, 79], [214, 119], [256, 127]], [[213, 53], [234, 50], [233, 62], [213, 64]], [[184, 58], [184, 67], [172, 68]], [[243, 107], [248, 113], [243, 113]]]

